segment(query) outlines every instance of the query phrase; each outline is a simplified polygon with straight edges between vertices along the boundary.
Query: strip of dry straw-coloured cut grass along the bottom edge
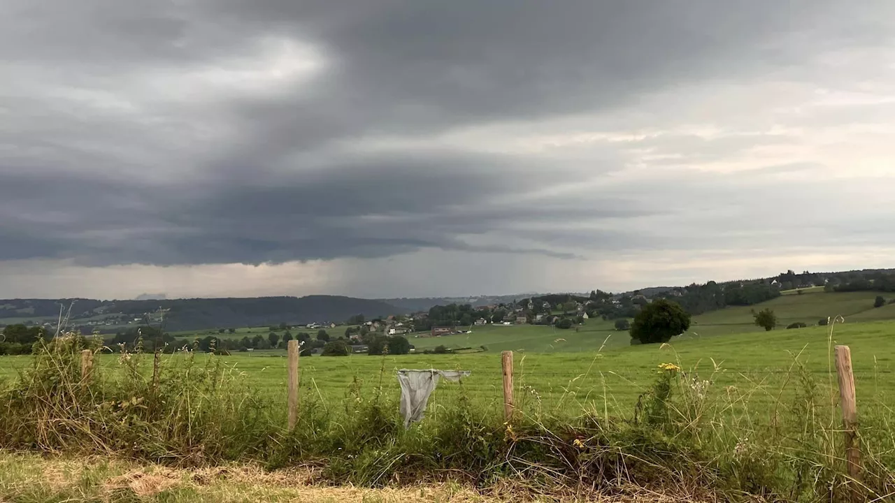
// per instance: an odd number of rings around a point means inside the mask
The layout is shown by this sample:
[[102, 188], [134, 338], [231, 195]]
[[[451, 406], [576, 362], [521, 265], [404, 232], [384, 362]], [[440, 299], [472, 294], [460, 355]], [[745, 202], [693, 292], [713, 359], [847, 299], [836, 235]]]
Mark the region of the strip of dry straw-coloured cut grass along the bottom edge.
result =
[[617, 494], [592, 491], [537, 494], [518, 483], [501, 482], [476, 490], [456, 482], [359, 488], [315, 483], [309, 468], [265, 471], [254, 465], [202, 469], [172, 469], [134, 465], [93, 457], [71, 459], [0, 452], [0, 503], [38, 501], [174, 501], [230, 503], [244, 501], [302, 503], [671, 503], [715, 502], [710, 495], [665, 493], [644, 488], [622, 488]]

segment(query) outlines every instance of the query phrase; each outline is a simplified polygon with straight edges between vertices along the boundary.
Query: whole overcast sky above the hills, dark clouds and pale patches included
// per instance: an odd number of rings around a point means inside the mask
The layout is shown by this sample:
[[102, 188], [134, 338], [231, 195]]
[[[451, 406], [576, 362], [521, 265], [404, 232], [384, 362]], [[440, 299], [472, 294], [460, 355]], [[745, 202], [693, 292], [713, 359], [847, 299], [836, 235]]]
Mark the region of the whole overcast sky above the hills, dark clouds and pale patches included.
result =
[[889, 0], [0, 9], [0, 298], [895, 267]]

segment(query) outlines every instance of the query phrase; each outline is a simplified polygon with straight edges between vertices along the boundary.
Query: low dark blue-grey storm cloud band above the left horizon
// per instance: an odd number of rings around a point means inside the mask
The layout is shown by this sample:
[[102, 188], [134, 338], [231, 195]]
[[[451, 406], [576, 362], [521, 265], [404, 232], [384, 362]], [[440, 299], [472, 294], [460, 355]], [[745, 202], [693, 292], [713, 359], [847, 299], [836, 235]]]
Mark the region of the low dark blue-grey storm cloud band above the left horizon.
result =
[[[353, 161], [344, 161], [316, 174], [155, 190], [102, 178], [8, 175], [9, 196], [0, 204], [3, 226], [11, 233], [4, 237], [14, 246], [0, 249], [0, 260], [28, 258], [30, 253], [86, 265], [260, 263], [381, 257], [420, 248], [573, 256], [457, 237], [487, 234], [519, 220], [575, 217], [580, 208], [572, 204], [489, 202], [536, 189], [549, 180], [548, 174], [523, 178], [525, 170], [520, 169], [505, 177], [492, 175], [490, 170], [507, 162], [493, 156], [438, 151], [415, 157], [415, 162], [413, 156], [370, 157], [360, 170], [346, 167]], [[593, 215], [644, 214], [618, 205], [618, 200], [607, 199], [592, 208]], [[42, 237], [25, 240], [36, 228]]]

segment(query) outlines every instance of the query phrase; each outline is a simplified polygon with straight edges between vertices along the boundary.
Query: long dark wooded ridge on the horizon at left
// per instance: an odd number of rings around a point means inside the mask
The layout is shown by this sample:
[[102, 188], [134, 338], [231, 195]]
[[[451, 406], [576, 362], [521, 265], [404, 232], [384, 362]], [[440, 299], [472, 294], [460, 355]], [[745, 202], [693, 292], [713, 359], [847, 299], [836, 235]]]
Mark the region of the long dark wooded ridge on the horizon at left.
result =
[[152, 313], [159, 309], [167, 310], [165, 328], [170, 331], [344, 321], [355, 314], [377, 317], [403, 311], [381, 301], [334, 295], [145, 301], [8, 299], [0, 300], [0, 324], [55, 323], [60, 307], [67, 311], [69, 306], [72, 326], [102, 332], [156, 320]]

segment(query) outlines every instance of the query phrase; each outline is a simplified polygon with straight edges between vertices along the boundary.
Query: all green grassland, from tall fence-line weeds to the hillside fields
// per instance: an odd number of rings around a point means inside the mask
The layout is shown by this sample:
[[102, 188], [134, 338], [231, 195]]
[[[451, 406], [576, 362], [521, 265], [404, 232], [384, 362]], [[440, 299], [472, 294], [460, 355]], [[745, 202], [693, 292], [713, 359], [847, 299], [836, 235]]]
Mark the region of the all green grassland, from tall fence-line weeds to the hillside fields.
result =
[[[80, 350], [90, 341], [72, 337], [38, 356], [0, 358], [0, 455], [310, 465], [319, 482], [360, 486], [450, 474], [480, 488], [506, 480], [554, 493], [634, 484], [720, 491], [707, 500], [844, 501], [831, 350], [849, 345], [860, 490], [884, 501], [895, 495], [895, 306], [874, 309], [874, 296], [811, 292], [761, 306], [784, 326], [844, 316], [831, 327], [766, 332], [748, 308], [715, 311], [669, 345], [629, 345], [610, 322], [588, 320], [577, 330], [490, 326], [411, 337], [418, 350], [487, 347], [476, 353], [303, 357], [294, 431], [286, 431], [282, 350], [154, 362], [94, 346], [85, 384]], [[512, 422], [503, 417], [502, 350], [515, 352]], [[439, 383], [426, 418], [405, 430], [396, 371], [430, 368], [472, 375]]]

